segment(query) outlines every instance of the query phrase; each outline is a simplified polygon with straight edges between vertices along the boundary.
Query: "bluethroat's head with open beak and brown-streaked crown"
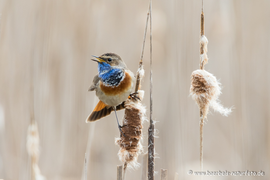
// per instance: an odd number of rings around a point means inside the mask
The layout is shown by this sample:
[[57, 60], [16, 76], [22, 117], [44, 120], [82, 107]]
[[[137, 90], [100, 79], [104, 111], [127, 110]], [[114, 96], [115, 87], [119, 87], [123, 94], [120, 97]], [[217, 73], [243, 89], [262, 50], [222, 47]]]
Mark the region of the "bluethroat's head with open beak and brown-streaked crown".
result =
[[124, 63], [123, 59], [117, 55], [116, 53], [105, 53], [99, 57], [93, 56], [96, 59], [91, 59], [99, 63], [99, 65], [108, 66], [110, 65], [112, 68], [125, 69], [127, 66]]

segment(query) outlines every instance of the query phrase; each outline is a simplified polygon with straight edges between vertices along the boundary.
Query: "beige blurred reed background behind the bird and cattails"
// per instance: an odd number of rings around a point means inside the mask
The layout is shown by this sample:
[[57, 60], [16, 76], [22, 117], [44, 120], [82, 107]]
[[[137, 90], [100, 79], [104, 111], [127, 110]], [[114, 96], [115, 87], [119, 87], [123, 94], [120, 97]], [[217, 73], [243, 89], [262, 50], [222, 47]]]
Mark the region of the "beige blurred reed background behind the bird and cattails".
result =
[[[88, 92], [97, 73], [91, 55], [119, 54], [137, 70], [149, 1], [0, 0], [0, 179], [30, 179], [26, 134], [30, 123], [31, 62], [34, 61], [35, 120], [39, 167], [47, 179], [116, 179], [122, 164], [114, 138], [114, 114], [85, 123], [97, 103]], [[270, 1], [205, 0], [209, 64], [224, 86], [224, 106], [204, 126], [204, 170], [257, 171], [265, 176], [205, 176], [204, 179], [270, 179]], [[199, 69], [200, 0], [153, 0], [153, 117], [155, 170], [168, 179], [198, 179], [199, 110], [188, 97], [191, 72]], [[149, 109], [149, 32], [144, 53]], [[118, 116], [123, 117], [124, 111]], [[149, 111], [147, 113], [149, 116]], [[122, 122], [121, 122], [122, 123]], [[144, 146], [147, 147], [144, 124]], [[147, 150], [147, 148], [145, 148]], [[141, 157], [139, 158], [139, 162]], [[141, 170], [127, 172], [140, 179]]]

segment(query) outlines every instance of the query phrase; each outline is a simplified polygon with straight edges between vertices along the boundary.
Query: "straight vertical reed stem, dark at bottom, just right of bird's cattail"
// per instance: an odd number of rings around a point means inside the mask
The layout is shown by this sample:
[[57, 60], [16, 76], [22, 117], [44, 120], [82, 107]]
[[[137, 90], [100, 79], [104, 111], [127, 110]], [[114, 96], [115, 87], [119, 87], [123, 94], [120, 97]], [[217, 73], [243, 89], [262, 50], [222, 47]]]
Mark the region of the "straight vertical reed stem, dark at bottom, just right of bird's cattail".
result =
[[153, 121], [153, 97], [152, 97], [152, 10], [150, 0], [150, 125], [148, 128], [148, 180], [154, 180], [154, 133], [155, 124]]

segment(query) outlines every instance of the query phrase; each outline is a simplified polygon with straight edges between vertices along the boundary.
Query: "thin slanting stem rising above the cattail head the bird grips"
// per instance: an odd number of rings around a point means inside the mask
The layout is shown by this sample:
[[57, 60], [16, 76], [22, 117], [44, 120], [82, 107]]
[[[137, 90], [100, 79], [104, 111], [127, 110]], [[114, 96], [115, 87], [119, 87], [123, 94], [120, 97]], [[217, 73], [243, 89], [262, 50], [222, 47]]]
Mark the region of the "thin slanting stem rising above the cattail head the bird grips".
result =
[[140, 90], [140, 88], [141, 88], [141, 77], [140, 77], [140, 73], [138, 73], [138, 72], [140, 72], [140, 70], [143, 68], [143, 52], [144, 52], [144, 44], [145, 44], [147, 25], [148, 25], [148, 19], [149, 19], [150, 2], [151, 1], [149, 1], [146, 24], [145, 24], [145, 29], [144, 29], [143, 47], [141, 48], [141, 59], [140, 59], [140, 62], [139, 62], [139, 68], [138, 68], [137, 75], [136, 75], [137, 80], [136, 80], [136, 85], [135, 85], [135, 93], [138, 92], [138, 90]]

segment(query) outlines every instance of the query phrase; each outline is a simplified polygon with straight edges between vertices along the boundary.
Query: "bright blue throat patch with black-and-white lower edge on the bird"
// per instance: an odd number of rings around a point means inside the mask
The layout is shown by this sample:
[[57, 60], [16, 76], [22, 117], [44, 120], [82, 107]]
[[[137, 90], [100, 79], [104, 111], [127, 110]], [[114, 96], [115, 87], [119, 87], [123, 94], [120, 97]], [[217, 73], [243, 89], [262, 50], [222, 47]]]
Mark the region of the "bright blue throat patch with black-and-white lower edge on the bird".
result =
[[100, 80], [109, 86], [118, 86], [122, 81], [124, 72], [122, 69], [116, 69], [107, 63], [98, 63], [97, 70]]

